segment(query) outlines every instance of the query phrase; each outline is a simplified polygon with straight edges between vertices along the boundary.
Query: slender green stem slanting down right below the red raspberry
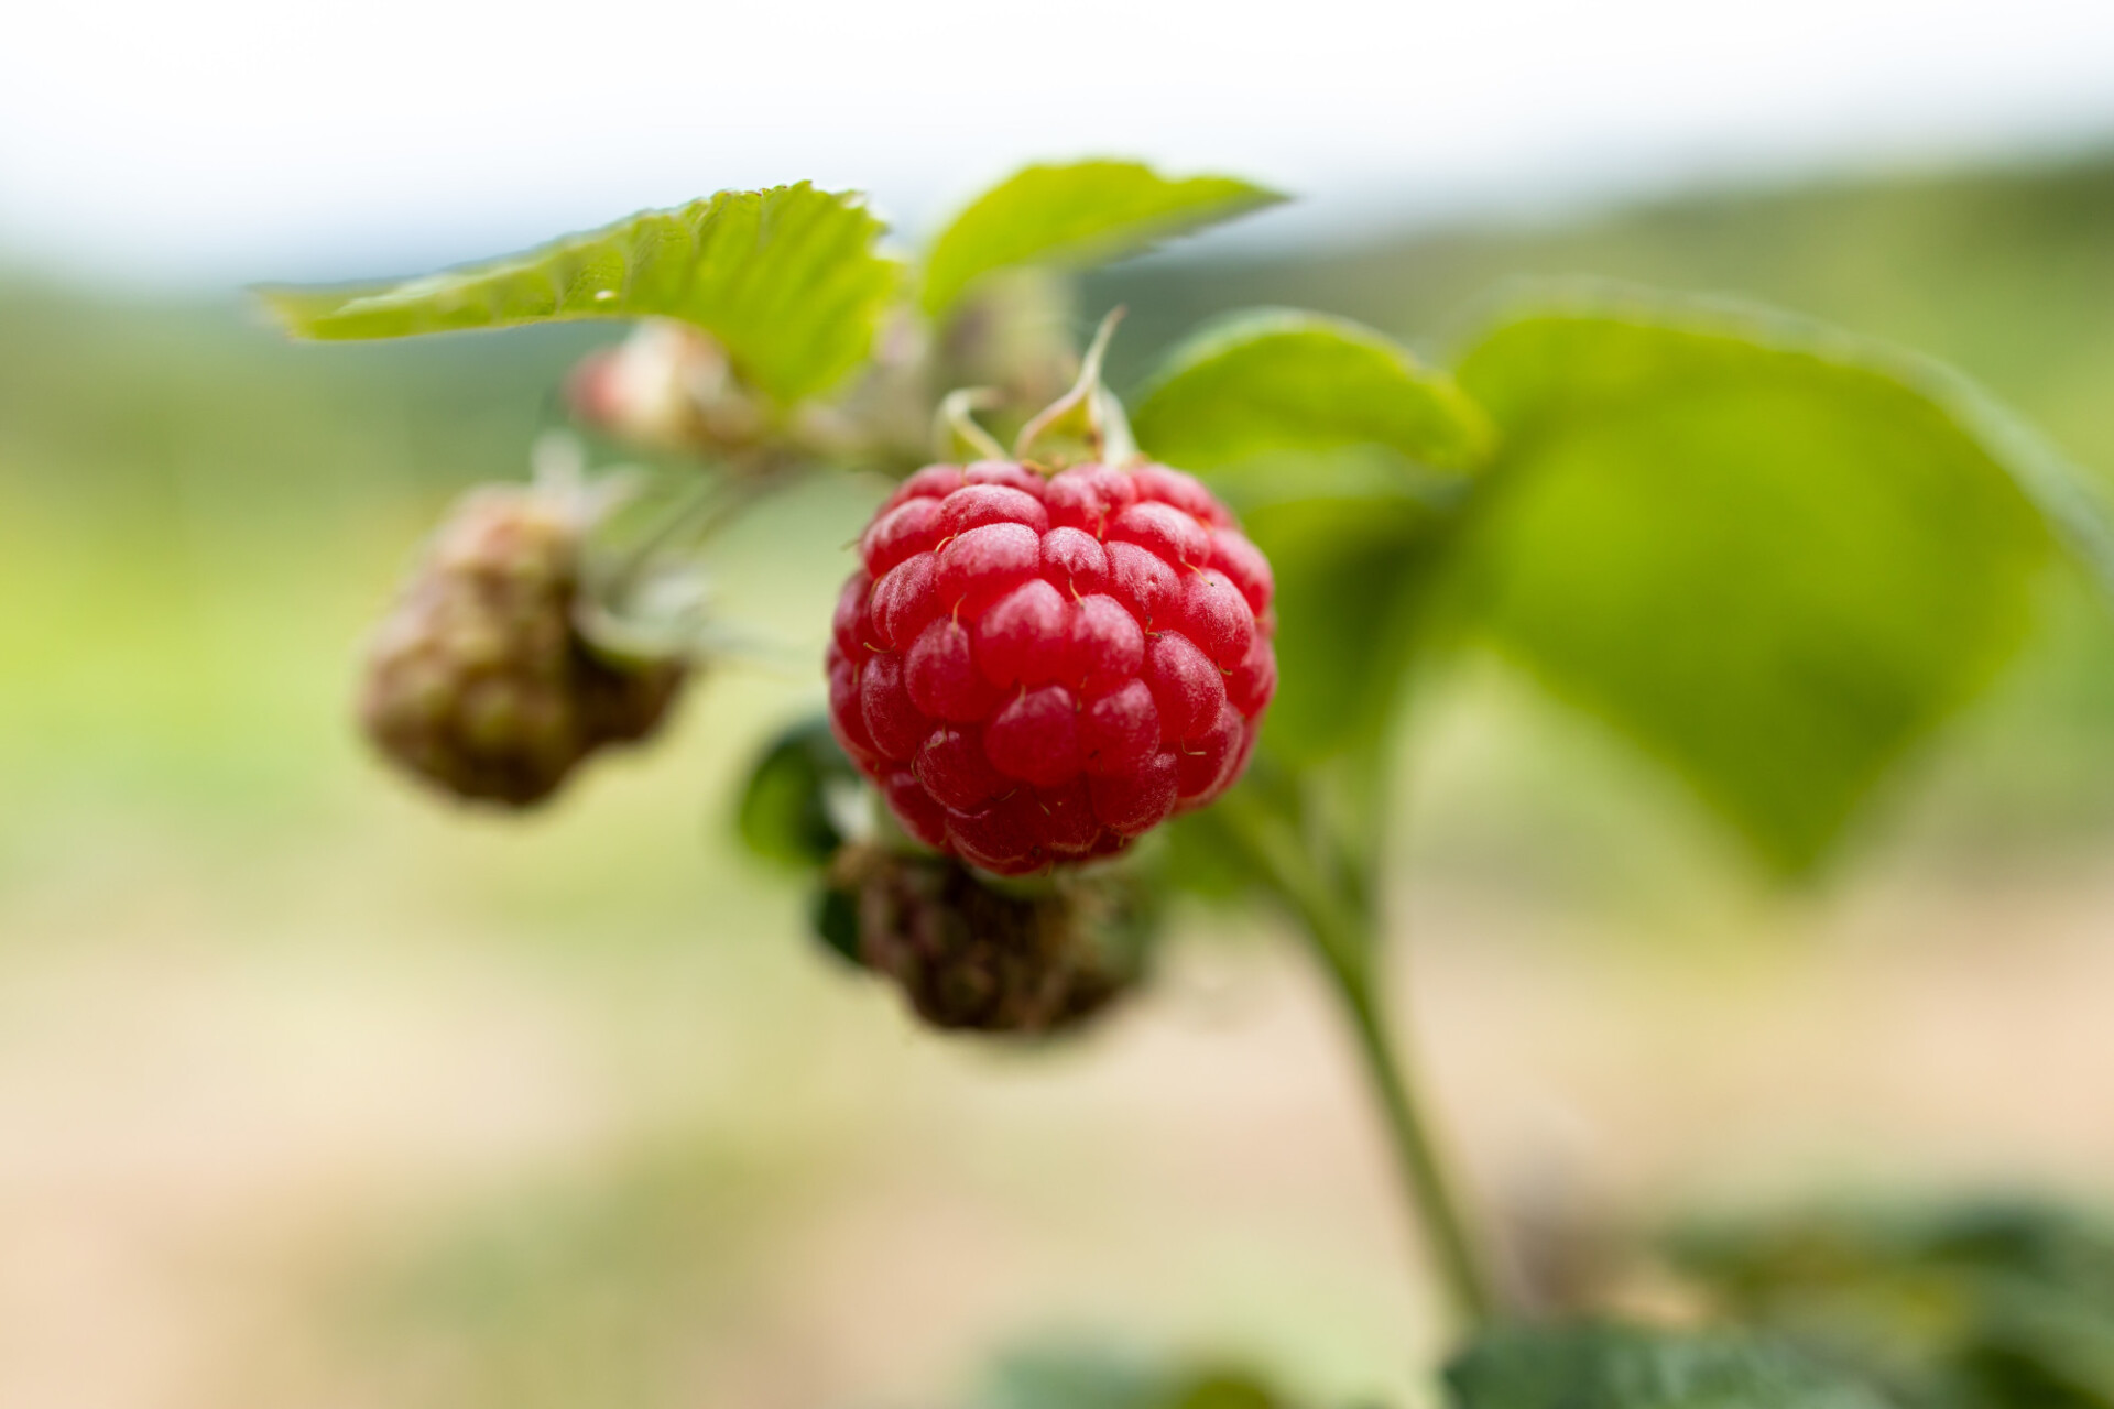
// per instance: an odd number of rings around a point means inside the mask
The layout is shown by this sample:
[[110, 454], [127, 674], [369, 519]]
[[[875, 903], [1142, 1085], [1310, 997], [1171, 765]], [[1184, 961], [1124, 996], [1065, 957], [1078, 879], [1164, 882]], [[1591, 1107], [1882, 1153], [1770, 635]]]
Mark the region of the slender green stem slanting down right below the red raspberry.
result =
[[1330, 976], [1351, 1020], [1366, 1077], [1378, 1096], [1402, 1189], [1438, 1261], [1454, 1314], [1478, 1329], [1497, 1316], [1497, 1297], [1461, 1200], [1431, 1136], [1408, 1065], [1389, 1033], [1378, 982], [1380, 936], [1368, 906], [1347, 902], [1342, 887], [1313, 864], [1311, 847], [1281, 820], [1235, 805], [1237, 830], [1279, 896], [1292, 906], [1315, 959]]

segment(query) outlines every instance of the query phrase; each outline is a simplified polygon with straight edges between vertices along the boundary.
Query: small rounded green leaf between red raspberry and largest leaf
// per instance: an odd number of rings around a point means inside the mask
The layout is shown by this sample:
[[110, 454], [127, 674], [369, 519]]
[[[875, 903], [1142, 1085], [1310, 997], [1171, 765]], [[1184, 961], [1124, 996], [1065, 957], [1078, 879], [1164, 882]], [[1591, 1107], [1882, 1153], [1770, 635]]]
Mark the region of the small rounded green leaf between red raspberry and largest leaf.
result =
[[1256, 454], [1385, 446], [1473, 469], [1495, 435], [1454, 380], [1387, 336], [1294, 308], [1237, 313], [1177, 346], [1131, 416], [1137, 444], [1190, 471]]

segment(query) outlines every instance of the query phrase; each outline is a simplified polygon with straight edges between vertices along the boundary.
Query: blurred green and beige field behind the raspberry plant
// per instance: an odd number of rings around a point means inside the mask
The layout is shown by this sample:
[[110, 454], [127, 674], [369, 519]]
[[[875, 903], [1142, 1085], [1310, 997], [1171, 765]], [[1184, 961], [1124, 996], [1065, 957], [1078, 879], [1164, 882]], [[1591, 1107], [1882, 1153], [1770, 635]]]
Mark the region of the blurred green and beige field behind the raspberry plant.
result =
[[[2114, 469], [2114, 161], [1156, 258], [1082, 306], [1131, 306], [1135, 372], [1245, 302], [1429, 344], [1520, 273], [1894, 338]], [[706, 682], [526, 824], [368, 767], [364, 623], [607, 336], [290, 349], [0, 285], [0, 1403], [909, 1407], [1044, 1327], [1416, 1392], [1414, 1248], [1260, 925], [1192, 917], [1108, 1031], [1000, 1054], [920, 1035], [729, 853], [808, 678]], [[759, 518], [727, 610], [818, 646], [863, 494]], [[1433, 701], [1404, 995], [1507, 1208], [2106, 1187], [2114, 632], [2048, 608], [1807, 896], [1495, 668]]]

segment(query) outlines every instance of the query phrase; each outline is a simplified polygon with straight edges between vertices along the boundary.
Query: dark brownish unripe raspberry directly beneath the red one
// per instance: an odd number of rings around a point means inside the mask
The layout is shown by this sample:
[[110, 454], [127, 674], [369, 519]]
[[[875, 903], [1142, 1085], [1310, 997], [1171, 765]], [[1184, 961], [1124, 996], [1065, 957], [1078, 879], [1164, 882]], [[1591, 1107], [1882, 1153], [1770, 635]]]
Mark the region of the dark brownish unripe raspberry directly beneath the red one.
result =
[[831, 883], [852, 902], [858, 961], [943, 1029], [1074, 1027], [1131, 984], [1150, 929], [1114, 875], [1008, 894], [951, 858], [846, 847]]

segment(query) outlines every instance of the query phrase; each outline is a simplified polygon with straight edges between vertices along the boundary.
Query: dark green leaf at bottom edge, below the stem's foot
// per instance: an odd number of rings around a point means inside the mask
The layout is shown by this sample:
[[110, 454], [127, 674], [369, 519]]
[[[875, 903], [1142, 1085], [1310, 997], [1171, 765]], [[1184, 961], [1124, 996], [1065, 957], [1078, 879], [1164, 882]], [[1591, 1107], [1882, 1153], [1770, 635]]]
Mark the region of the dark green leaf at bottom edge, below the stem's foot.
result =
[[1503, 1327], [1446, 1367], [1457, 1409], [1886, 1409], [1786, 1346], [1723, 1331]]

